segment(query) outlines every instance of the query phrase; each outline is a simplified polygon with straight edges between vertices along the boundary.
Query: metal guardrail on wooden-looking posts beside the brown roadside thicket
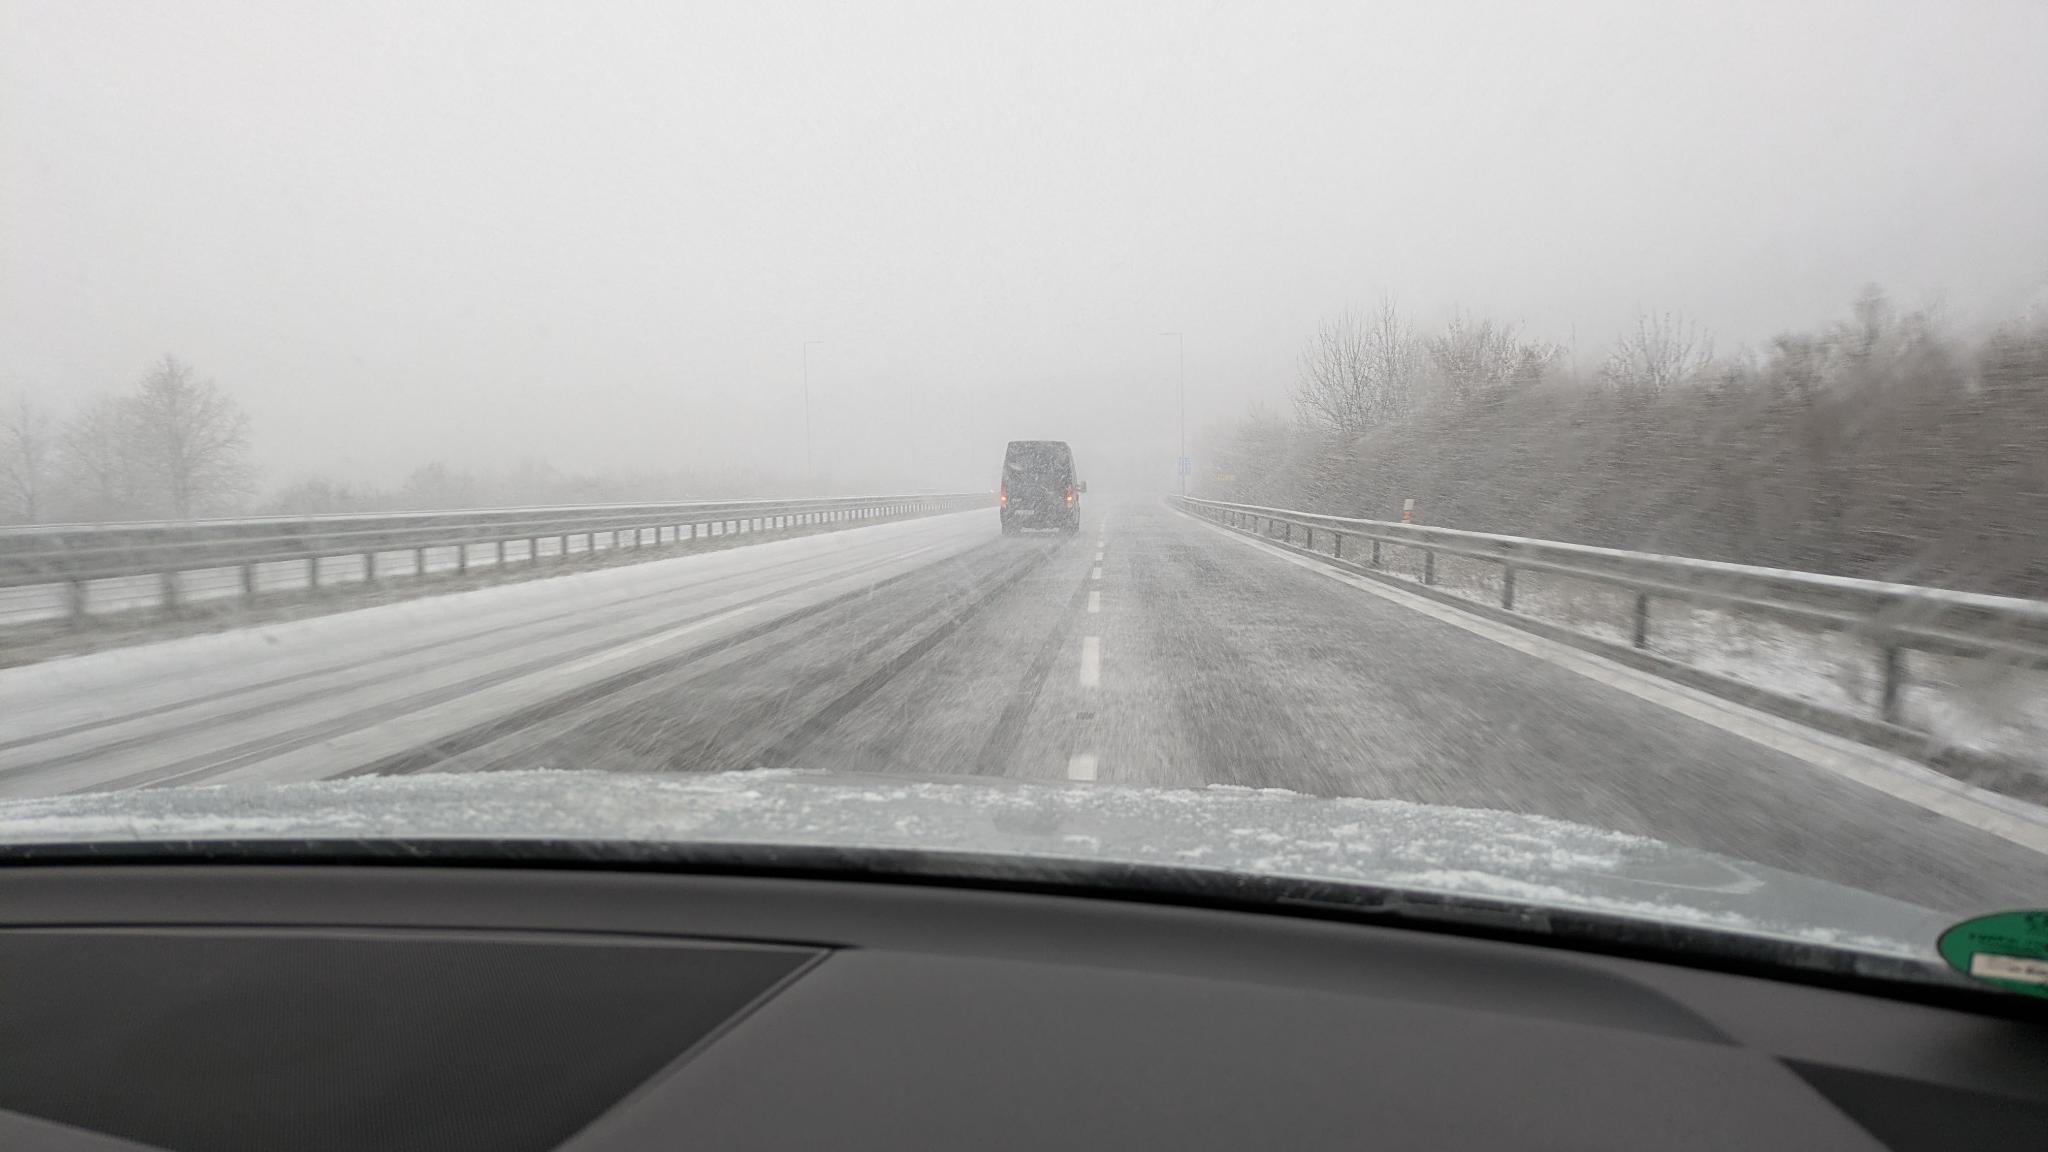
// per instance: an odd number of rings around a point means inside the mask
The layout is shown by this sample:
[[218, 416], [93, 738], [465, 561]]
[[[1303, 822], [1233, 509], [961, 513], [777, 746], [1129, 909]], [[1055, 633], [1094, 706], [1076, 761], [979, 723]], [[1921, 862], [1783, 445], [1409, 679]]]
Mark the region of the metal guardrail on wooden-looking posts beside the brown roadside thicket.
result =
[[[1587, 648], [1649, 652], [1653, 648], [1651, 601], [1681, 601], [1847, 631], [1872, 644], [1880, 676], [1876, 719], [1888, 728], [1905, 726], [1901, 707], [1903, 652], [1919, 650], [2048, 668], [2048, 603], [2044, 601], [1395, 521], [1323, 517], [1190, 496], [1174, 496], [1171, 500], [1223, 527], [1255, 533], [1300, 551], [1315, 551], [1366, 574], [1386, 570], [1384, 549], [1389, 547], [1417, 551], [1421, 553], [1419, 582], [1425, 586], [1436, 584], [1438, 556], [1497, 564], [1501, 568], [1499, 613], [1513, 617], [1513, 623], [1530, 623], [1526, 615], [1516, 611], [1518, 572], [1544, 572], [1632, 592], [1630, 646], [1622, 648], [1573, 631], [1573, 644]], [[1300, 533], [1298, 539], [1296, 533]], [[1323, 547], [1317, 547], [1319, 539]], [[1464, 596], [1454, 599], [1473, 605]]]

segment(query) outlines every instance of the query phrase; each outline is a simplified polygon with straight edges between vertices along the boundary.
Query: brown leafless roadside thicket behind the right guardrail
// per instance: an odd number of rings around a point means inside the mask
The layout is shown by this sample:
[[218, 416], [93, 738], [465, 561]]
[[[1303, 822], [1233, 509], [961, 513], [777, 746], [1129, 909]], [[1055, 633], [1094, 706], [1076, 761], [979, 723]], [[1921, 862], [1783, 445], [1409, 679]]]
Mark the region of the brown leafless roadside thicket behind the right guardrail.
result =
[[1585, 367], [1511, 324], [1321, 324], [1294, 412], [1208, 445], [1196, 492], [2048, 596], [2048, 316], [1964, 338], [1868, 289], [1716, 355], [1647, 314]]

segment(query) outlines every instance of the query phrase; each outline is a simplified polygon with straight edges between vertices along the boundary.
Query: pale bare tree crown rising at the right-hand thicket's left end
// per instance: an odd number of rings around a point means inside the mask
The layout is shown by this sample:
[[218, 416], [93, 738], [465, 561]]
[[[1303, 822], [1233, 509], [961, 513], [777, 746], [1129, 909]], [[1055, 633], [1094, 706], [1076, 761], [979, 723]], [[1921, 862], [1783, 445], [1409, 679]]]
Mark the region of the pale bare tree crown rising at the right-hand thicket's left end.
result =
[[1313, 428], [1358, 437], [1415, 404], [1421, 348], [1393, 297], [1376, 316], [1343, 312], [1317, 326], [1300, 355], [1294, 412]]

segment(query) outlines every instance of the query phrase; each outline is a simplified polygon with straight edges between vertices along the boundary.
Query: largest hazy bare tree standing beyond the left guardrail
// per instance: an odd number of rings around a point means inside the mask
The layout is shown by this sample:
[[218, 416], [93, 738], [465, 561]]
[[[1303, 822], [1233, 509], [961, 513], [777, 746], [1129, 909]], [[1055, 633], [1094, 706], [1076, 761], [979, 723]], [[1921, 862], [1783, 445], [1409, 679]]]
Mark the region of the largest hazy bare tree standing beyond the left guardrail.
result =
[[135, 392], [135, 449], [170, 515], [219, 510], [250, 488], [248, 416], [211, 379], [164, 357]]

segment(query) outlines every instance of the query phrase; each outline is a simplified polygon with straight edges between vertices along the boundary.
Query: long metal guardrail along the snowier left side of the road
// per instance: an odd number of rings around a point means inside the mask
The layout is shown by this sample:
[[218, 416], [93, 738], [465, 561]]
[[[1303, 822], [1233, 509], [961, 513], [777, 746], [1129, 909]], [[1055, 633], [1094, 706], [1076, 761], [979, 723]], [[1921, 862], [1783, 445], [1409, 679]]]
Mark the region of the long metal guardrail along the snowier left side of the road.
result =
[[[473, 549], [524, 541], [539, 564], [541, 541], [559, 541], [555, 558], [643, 543], [688, 543], [707, 537], [788, 527], [938, 515], [993, 506], [989, 492], [911, 496], [836, 496], [821, 500], [727, 500], [690, 504], [596, 504], [557, 508], [481, 508], [461, 512], [397, 512], [346, 517], [276, 517], [240, 521], [178, 521], [131, 525], [55, 525], [0, 529], [0, 588], [61, 586], [74, 619], [90, 611], [94, 580], [156, 576], [160, 607], [178, 607], [178, 576], [201, 570], [242, 570], [242, 596], [258, 590], [256, 568], [303, 562], [309, 588], [319, 588], [319, 562], [362, 558], [362, 582], [377, 582], [379, 558], [412, 551], [412, 572], [426, 572], [426, 551], [455, 547], [455, 570], [467, 572]], [[651, 537], [649, 537], [651, 533]]]

